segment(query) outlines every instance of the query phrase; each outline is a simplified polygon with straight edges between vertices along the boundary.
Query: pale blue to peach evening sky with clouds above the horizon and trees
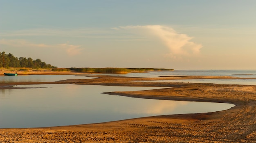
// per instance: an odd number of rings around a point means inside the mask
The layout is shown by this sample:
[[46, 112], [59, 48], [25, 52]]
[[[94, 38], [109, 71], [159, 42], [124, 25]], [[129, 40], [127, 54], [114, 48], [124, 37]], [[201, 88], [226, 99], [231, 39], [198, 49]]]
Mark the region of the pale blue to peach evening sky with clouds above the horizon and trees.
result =
[[0, 0], [0, 52], [56, 67], [256, 69], [256, 0]]

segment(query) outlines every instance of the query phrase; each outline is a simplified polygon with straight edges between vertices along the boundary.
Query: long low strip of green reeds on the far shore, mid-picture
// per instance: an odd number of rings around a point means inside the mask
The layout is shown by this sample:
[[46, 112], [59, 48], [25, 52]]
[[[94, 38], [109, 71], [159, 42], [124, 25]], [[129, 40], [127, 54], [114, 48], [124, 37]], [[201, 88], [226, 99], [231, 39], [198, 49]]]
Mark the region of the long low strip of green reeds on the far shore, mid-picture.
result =
[[146, 72], [146, 71], [160, 71], [160, 70], [173, 70], [173, 69], [154, 69], [154, 68], [115, 68], [115, 67], [106, 67], [106, 68], [70, 68], [72, 71], [76, 72], [100, 72], [100, 73], [112, 73], [112, 74], [127, 74], [130, 72]]

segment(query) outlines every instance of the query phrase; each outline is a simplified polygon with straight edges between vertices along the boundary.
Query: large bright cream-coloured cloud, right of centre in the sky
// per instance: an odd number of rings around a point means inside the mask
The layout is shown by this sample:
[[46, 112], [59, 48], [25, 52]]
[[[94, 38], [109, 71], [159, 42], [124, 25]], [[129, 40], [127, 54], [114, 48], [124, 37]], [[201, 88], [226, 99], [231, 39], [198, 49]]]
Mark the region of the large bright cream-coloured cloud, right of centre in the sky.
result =
[[146, 25], [146, 26], [119, 26], [125, 29], [144, 36], [150, 36], [162, 41], [170, 50], [171, 55], [191, 55], [200, 53], [201, 44], [190, 41], [193, 37], [186, 34], [180, 34], [173, 28], [161, 25]]

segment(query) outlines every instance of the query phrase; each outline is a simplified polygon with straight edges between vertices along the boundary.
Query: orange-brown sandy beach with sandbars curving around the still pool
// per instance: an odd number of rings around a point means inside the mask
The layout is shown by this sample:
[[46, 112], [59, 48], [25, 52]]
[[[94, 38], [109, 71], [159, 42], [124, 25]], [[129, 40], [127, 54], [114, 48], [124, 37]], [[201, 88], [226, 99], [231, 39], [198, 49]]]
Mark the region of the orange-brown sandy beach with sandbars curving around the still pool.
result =
[[[78, 73], [40, 71], [32, 74]], [[164, 89], [109, 92], [105, 94], [160, 100], [231, 103], [236, 106], [213, 113], [163, 115], [98, 124], [47, 128], [0, 129], [0, 143], [256, 143], [256, 85], [134, 82], [170, 79], [237, 79], [236, 77], [166, 76], [132, 78], [93, 74], [85, 76], [97, 78], [58, 82], [2, 83], [0, 89], [14, 89], [15, 87], [11, 85], [34, 84], [165, 87]]]

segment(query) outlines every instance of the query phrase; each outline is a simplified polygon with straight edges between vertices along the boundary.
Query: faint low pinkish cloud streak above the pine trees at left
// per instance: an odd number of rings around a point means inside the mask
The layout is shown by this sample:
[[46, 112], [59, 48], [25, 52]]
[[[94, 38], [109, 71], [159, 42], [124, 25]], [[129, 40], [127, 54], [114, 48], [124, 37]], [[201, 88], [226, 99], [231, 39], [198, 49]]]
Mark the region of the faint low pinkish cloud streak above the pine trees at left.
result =
[[0, 39], [0, 45], [9, 45], [17, 48], [59, 48], [60, 50], [65, 50], [67, 55], [75, 56], [81, 52], [80, 45], [71, 45], [69, 43], [47, 45], [43, 43], [31, 43], [24, 39]]

